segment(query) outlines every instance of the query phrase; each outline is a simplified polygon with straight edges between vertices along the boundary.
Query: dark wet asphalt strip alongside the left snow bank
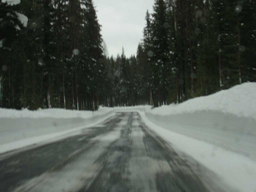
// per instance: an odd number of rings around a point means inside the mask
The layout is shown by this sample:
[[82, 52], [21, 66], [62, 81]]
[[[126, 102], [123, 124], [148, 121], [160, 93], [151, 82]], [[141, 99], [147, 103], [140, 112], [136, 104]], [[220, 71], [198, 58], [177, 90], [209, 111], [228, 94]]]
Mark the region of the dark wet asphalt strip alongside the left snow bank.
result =
[[122, 116], [124, 114], [118, 114], [113, 119], [106, 120], [101, 127], [85, 129], [81, 135], [39, 147], [35, 146], [26, 151], [1, 155], [0, 191], [12, 191], [26, 180], [61, 169], [93, 146], [93, 143], [90, 143], [91, 138], [111, 132], [115, 125], [120, 123]]

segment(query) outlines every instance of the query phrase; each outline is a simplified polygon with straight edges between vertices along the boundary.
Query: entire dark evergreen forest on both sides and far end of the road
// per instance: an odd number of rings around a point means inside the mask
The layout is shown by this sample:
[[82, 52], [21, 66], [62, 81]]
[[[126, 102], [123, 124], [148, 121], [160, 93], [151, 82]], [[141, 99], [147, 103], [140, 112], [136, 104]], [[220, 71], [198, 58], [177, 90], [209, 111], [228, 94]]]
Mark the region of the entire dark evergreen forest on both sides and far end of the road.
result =
[[0, 107], [159, 106], [256, 80], [255, 0], [155, 0], [153, 10], [136, 57], [109, 57], [92, 0], [1, 3]]

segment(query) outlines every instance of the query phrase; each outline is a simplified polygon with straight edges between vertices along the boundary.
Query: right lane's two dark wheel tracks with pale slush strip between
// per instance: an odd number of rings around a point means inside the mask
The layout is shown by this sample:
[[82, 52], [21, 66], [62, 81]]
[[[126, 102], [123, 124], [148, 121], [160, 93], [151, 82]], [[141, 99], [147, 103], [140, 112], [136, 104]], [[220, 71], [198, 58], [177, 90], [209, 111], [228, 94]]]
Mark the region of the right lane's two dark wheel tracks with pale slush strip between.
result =
[[96, 162], [103, 167], [79, 192], [208, 192], [178, 154], [131, 113], [121, 137]]

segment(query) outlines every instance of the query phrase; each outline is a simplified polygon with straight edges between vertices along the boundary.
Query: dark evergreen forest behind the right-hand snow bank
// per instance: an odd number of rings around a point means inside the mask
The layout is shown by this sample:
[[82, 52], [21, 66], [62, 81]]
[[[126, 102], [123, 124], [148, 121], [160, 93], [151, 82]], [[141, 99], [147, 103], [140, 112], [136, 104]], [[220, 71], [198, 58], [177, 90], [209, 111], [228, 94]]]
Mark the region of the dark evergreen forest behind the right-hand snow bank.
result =
[[180, 103], [255, 81], [255, 16], [254, 0], [156, 0], [137, 52], [147, 101]]

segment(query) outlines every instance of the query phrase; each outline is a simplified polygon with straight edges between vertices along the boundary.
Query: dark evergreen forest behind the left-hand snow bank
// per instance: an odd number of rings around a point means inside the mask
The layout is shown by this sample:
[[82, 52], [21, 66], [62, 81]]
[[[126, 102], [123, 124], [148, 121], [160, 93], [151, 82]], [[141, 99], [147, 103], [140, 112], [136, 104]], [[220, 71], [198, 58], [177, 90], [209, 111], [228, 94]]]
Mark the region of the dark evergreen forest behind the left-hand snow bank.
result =
[[[28, 17], [26, 27], [16, 13]], [[92, 0], [1, 3], [0, 14], [0, 107], [98, 105], [104, 63], [101, 26]]]

